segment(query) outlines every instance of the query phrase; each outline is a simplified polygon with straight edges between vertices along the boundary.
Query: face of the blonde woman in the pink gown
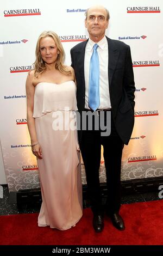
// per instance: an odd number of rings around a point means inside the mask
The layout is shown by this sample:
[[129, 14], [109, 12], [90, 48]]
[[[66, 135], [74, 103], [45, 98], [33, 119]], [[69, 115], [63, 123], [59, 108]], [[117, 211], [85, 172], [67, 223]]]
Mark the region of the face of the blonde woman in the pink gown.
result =
[[51, 36], [46, 36], [40, 40], [40, 53], [46, 64], [55, 63], [59, 51], [55, 45], [54, 39]]

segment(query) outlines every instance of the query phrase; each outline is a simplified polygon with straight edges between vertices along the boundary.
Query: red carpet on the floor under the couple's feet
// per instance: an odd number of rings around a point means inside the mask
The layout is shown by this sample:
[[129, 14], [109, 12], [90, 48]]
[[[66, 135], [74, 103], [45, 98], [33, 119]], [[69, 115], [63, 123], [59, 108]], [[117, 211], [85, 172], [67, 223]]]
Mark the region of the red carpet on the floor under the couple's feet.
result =
[[126, 230], [119, 231], [105, 216], [102, 233], [92, 228], [92, 212], [66, 231], [38, 227], [38, 214], [0, 216], [0, 245], [162, 245], [163, 200], [122, 205]]

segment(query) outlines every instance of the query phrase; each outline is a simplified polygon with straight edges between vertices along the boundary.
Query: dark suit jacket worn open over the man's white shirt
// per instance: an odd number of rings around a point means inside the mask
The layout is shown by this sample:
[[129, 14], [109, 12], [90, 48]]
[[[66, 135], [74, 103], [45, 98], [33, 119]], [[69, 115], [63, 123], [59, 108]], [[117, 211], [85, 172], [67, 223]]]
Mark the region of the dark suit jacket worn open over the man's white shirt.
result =
[[[128, 144], [134, 126], [134, 74], [130, 47], [124, 42], [106, 36], [109, 48], [109, 93], [112, 117], [118, 135]], [[85, 107], [84, 56], [87, 41], [71, 49], [72, 67], [77, 81], [77, 104], [81, 113]], [[82, 131], [79, 131], [79, 142]]]

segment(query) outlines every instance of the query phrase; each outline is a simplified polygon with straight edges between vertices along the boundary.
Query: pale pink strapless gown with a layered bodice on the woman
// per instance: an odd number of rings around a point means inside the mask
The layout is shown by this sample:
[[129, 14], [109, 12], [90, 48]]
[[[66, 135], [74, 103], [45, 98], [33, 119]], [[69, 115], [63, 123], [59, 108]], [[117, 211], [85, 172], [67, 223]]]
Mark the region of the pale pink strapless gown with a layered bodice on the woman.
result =
[[66, 230], [82, 217], [77, 130], [67, 128], [70, 124], [74, 127], [76, 110], [73, 81], [41, 82], [35, 87], [33, 117], [43, 156], [37, 159], [42, 194], [40, 227]]

